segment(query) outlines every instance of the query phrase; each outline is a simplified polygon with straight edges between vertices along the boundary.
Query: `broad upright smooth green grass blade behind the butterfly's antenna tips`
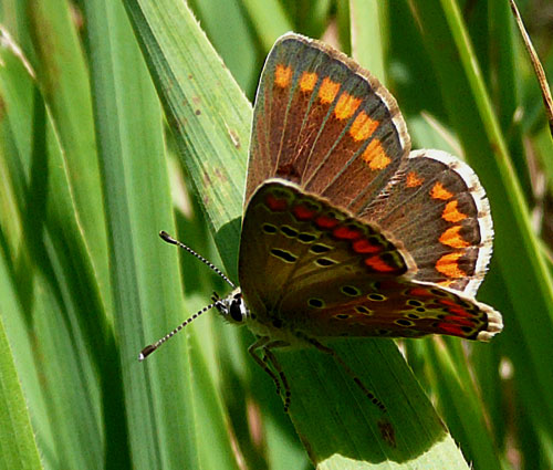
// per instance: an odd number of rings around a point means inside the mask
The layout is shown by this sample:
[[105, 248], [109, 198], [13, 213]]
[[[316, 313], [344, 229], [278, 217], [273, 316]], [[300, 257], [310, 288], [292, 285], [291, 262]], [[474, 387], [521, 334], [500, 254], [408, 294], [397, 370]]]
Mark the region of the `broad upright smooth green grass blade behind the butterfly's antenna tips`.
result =
[[[92, 82], [133, 466], [202, 468], [199, 447], [206, 428], [223, 422], [217, 404], [202, 415], [195, 410], [195, 395], [209, 387], [212, 394], [212, 385], [191, 383], [184, 342], [144, 364], [137, 361], [138, 352], [178, 324], [186, 311], [178, 253], [157, 234], [175, 226], [159, 104], [123, 7], [90, 3], [86, 14], [95, 51]], [[221, 463], [233, 461], [229, 445], [217, 447], [227, 450], [218, 453]]]

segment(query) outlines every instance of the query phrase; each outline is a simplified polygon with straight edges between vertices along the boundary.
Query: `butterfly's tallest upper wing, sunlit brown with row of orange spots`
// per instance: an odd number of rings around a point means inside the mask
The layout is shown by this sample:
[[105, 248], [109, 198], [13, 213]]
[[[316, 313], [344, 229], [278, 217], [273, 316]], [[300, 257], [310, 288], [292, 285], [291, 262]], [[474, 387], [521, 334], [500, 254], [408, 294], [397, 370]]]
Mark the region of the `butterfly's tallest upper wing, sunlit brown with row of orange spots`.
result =
[[355, 212], [410, 149], [394, 97], [344, 54], [296, 34], [269, 54], [255, 98], [248, 202], [280, 177]]

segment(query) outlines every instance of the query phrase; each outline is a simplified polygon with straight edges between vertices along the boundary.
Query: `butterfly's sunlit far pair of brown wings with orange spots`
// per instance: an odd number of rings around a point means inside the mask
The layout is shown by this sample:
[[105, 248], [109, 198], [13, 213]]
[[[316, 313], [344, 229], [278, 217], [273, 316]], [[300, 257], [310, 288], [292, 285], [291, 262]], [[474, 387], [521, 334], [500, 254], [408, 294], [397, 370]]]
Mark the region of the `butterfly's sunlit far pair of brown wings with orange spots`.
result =
[[281, 177], [393, 233], [415, 279], [474, 295], [493, 236], [473, 171], [414, 152], [395, 100], [333, 49], [295, 34], [268, 56], [258, 90], [247, 198]]

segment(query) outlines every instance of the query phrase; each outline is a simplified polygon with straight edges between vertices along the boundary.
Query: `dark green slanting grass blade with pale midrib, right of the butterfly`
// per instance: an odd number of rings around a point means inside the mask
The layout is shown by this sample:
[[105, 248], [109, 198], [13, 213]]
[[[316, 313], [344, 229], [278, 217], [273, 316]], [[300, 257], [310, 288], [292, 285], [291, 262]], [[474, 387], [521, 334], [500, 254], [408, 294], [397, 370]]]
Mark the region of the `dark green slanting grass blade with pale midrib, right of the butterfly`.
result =
[[509, 300], [504, 302], [504, 293], [497, 291], [494, 297], [490, 295], [490, 303], [505, 304], [504, 354], [518, 370], [526, 399], [543, 404], [533, 414], [534, 419], [550, 428], [553, 376], [544, 358], [553, 354], [551, 273], [540, 254], [519, 180], [456, 3], [413, 4], [420, 24], [432, 25], [431, 30], [422, 28], [422, 34], [440, 79], [450, 121], [490, 198], [495, 226], [494, 257]]

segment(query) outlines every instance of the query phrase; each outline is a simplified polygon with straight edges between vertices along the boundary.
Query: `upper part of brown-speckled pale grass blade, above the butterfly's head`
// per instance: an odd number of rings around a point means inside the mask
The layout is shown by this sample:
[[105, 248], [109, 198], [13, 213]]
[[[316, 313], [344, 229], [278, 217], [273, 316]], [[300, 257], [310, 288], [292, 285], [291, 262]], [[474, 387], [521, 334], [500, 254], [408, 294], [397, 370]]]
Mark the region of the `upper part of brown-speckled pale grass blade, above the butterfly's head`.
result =
[[185, 4], [125, 4], [221, 259], [236, 280], [251, 107]]

